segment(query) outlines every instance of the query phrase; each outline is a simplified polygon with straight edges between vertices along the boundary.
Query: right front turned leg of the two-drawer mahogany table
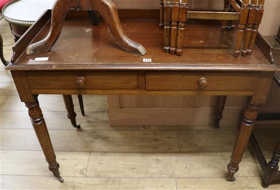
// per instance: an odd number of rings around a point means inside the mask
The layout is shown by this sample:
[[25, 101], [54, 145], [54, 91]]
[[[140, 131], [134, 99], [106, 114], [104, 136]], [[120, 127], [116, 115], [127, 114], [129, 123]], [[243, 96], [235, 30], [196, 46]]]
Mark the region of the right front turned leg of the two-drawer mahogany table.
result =
[[248, 103], [243, 112], [243, 117], [239, 125], [239, 131], [232, 152], [231, 161], [228, 165], [227, 179], [229, 181], [235, 181], [234, 174], [238, 171], [239, 163], [241, 162], [246, 145], [253, 130], [256, 118], [258, 116], [258, 107], [259, 105], [252, 105]]

